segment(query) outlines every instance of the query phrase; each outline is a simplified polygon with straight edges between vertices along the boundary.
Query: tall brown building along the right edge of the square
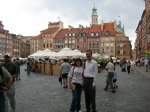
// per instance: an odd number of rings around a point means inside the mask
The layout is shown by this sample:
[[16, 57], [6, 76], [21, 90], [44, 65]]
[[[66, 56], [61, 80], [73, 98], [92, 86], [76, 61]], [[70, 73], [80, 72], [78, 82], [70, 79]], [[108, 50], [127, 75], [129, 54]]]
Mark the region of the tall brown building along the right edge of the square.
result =
[[136, 29], [136, 58], [150, 57], [150, 0], [145, 0], [145, 9]]

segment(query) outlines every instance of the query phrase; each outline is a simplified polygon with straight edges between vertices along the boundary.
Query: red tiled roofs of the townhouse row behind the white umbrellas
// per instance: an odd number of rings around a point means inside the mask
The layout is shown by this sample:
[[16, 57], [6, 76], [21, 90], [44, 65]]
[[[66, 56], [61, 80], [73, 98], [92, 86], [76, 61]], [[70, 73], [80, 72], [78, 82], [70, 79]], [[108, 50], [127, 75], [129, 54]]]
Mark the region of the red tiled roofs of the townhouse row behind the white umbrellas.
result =
[[[54, 22], [52, 24], [57, 24], [59, 22]], [[48, 28], [43, 31], [41, 31], [41, 34], [43, 33], [48, 33], [48, 34], [53, 34], [56, 32], [58, 28]], [[109, 36], [114, 36], [116, 34], [115, 28], [114, 28], [114, 22], [110, 23], [103, 23], [103, 28], [102, 24], [98, 25], [92, 25], [91, 27], [86, 27], [86, 28], [63, 28], [61, 29], [58, 34], [55, 36], [55, 38], [64, 38], [65, 34], [79, 34], [79, 33], [86, 33], [86, 36], [90, 36], [91, 33], [99, 33], [100, 36], [104, 36], [105, 32], [109, 32]]]

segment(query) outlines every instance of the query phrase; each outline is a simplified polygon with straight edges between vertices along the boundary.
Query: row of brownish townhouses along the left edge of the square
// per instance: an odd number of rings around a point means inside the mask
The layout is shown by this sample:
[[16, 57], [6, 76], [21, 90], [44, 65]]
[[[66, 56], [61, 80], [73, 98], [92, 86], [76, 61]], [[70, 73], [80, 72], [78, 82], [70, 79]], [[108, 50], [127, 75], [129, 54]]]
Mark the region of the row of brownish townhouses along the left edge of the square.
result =
[[27, 57], [30, 54], [30, 38], [9, 33], [0, 21], [0, 57], [9, 53], [13, 58]]

